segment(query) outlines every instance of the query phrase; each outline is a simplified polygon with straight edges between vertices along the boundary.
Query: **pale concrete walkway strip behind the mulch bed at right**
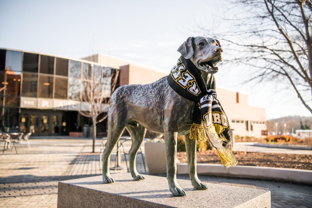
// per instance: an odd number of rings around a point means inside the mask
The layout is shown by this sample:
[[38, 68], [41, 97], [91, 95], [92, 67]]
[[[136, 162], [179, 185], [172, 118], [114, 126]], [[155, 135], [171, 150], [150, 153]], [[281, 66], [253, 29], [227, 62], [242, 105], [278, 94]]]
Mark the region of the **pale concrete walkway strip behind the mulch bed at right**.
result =
[[255, 142], [235, 142], [233, 145], [233, 150], [235, 150], [235, 151], [246, 151], [246, 152], [312, 154], [312, 150], [257, 147], [257, 146], [254, 146], [254, 144], [255, 144]]

